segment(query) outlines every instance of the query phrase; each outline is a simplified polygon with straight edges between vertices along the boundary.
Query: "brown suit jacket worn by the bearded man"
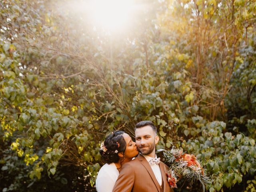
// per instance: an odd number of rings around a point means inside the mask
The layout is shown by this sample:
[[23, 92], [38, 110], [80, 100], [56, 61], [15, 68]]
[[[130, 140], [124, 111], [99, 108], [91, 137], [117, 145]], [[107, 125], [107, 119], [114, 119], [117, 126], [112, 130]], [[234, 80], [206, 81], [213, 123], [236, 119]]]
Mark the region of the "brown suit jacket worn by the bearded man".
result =
[[159, 185], [152, 168], [142, 154], [124, 164], [114, 186], [113, 192], [171, 192], [166, 177], [163, 162], [159, 163], [162, 174], [162, 188]]

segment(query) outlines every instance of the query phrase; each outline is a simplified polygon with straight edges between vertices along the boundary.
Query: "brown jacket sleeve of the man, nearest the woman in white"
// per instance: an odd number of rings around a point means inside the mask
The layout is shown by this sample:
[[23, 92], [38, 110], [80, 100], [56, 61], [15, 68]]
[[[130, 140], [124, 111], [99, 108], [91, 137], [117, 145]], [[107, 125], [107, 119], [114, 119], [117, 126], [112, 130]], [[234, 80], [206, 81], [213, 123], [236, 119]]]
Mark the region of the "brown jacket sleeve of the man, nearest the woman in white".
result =
[[134, 185], [134, 169], [130, 164], [124, 164], [119, 173], [113, 192], [131, 192]]

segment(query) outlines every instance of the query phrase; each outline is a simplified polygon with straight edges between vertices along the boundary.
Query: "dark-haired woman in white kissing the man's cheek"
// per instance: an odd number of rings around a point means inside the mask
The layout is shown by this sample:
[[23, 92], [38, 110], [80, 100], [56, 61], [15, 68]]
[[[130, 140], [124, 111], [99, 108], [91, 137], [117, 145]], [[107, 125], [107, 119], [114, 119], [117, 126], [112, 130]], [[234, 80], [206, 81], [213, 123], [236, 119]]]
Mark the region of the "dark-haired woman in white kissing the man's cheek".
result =
[[100, 169], [96, 178], [98, 192], [112, 192], [119, 175], [119, 169], [126, 162], [136, 157], [139, 152], [136, 143], [123, 131], [108, 135], [100, 146], [100, 154], [106, 164]]

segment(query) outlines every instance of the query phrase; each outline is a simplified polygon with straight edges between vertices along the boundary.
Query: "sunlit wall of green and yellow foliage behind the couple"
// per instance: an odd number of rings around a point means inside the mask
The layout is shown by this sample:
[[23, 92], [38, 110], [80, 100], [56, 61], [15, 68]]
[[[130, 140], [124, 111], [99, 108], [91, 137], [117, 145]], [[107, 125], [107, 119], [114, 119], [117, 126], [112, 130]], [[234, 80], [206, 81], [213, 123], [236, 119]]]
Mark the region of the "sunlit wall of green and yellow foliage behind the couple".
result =
[[255, 174], [255, 2], [151, 3], [115, 38], [66, 1], [0, 3], [0, 190], [93, 190], [100, 142], [146, 119], [209, 191]]

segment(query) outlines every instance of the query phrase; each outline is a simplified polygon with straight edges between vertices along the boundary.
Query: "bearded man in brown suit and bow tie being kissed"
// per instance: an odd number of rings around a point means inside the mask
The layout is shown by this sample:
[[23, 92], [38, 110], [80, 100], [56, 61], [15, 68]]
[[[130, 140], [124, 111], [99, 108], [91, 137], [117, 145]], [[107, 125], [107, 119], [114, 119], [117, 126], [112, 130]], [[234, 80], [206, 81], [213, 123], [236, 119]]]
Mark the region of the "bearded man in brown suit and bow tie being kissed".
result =
[[168, 167], [155, 152], [159, 141], [156, 126], [151, 121], [138, 122], [135, 140], [140, 154], [122, 166], [113, 192], [170, 192], [164, 168]]

